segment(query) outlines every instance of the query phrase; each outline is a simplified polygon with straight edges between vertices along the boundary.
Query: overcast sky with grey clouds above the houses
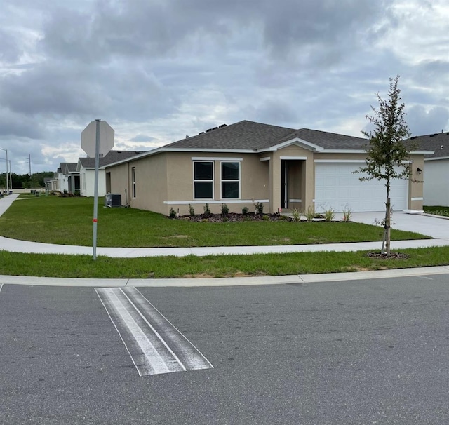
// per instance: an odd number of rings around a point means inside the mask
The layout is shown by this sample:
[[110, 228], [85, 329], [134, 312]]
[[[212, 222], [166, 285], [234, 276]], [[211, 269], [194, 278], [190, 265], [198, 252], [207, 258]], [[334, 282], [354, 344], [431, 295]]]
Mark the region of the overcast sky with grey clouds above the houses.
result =
[[449, 130], [448, 0], [1, 6], [0, 148], [13, 173], [28, 173], [29, 155], [32, 173], [86, 156], [94, 119], [129, 150], [244, 119], [361, 136], [397, 74], [413, 135]]

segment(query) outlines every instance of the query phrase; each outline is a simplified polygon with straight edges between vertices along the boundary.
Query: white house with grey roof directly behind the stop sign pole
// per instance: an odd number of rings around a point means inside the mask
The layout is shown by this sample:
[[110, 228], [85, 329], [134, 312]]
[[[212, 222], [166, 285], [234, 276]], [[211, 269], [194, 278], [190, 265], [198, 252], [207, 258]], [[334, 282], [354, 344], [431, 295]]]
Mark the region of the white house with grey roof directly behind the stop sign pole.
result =
[[[142, 154], [142, 151], [109, 151], [108, 154], [99, 158], [98, 196], [105, 196], [110, 191], [107, 185], [104, 167], [109, 163], [123, 161], [138, 154]], [[76, 164], [76, 171], [79, 173], [81, 182], [81, 196], [94, 196], [95, 158], [79, 158]]]

